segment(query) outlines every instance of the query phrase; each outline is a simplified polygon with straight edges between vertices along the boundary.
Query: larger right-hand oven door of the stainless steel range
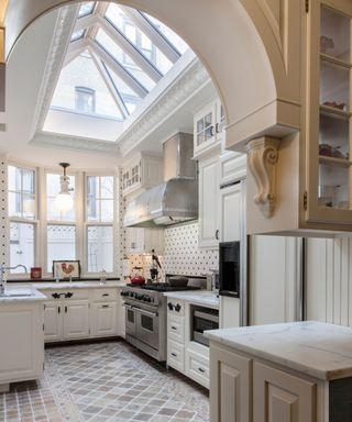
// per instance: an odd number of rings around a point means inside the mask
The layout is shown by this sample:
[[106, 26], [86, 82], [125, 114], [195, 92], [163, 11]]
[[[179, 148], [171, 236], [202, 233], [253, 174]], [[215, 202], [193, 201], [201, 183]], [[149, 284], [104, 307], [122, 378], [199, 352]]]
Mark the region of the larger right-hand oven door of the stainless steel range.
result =
[[136, 316], [136, 337], [148, 346], [158, 351], [158, 314], [157, 311], [147, 311], [134, 308]]

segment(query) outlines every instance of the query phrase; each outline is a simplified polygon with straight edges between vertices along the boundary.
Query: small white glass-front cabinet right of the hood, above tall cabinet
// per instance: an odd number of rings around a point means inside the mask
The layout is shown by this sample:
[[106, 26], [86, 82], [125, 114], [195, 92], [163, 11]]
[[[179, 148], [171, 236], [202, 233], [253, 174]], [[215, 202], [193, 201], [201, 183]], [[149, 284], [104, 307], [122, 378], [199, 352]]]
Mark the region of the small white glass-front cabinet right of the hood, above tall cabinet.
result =
[[211, 101], [194, 115], [194, 154], [196, 158], [224, 144], [224, 113], [219, 100]]

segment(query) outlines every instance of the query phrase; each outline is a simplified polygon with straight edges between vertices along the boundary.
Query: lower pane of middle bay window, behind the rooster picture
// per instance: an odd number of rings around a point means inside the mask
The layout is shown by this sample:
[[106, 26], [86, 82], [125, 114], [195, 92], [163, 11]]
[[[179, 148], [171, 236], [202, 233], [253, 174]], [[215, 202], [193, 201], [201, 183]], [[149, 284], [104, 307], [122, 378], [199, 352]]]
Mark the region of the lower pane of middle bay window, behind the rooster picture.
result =
[[74, 225], [47, 226], [47, 271], [53, 270], [53, 260], [76, 259], [76, 227]]

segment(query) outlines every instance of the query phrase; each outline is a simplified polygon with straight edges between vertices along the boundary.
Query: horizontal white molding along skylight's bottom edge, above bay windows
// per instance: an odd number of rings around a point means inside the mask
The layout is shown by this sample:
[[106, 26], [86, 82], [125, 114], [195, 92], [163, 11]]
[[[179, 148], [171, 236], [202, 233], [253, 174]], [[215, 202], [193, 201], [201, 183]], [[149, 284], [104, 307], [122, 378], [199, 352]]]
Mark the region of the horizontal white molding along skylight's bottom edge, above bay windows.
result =
[[59, 135], [50, 132], [35, 134], [30, 144], [35, 146], [56, 147], [85, 153], [120, 155], [120, 148], [116, 142], [100, 141], [89, 137]]

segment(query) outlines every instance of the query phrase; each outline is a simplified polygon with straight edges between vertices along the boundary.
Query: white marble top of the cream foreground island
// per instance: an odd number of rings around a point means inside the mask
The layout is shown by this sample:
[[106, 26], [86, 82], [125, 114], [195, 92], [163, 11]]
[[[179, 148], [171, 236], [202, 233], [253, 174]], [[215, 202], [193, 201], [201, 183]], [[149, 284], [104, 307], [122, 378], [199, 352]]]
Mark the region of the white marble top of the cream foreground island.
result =
[[212, 330], [210, 341], [323, 380], [352, 376], [352, 329], [305, 321]]

